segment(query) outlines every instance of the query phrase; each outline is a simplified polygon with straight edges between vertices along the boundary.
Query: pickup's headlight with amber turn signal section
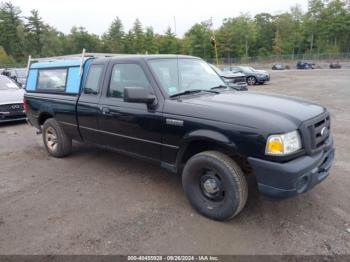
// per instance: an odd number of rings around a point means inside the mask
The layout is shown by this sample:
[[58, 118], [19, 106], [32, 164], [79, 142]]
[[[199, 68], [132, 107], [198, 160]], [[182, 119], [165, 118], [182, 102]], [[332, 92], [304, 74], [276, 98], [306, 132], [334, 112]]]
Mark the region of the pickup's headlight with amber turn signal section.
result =
[[301, 149], [300, 135], [297, 130], [283, 135], [271, 135], [267, 139], [265, 154], [285, 156]]

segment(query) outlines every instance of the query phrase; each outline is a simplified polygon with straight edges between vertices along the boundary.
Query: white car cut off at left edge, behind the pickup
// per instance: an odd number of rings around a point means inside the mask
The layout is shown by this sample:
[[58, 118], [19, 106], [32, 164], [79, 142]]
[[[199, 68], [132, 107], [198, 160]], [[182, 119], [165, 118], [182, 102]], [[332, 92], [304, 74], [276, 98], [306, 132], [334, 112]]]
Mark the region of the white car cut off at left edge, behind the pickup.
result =
[[25, 120], [24, 90], [10, 78], [0, 75], [0, 123]]

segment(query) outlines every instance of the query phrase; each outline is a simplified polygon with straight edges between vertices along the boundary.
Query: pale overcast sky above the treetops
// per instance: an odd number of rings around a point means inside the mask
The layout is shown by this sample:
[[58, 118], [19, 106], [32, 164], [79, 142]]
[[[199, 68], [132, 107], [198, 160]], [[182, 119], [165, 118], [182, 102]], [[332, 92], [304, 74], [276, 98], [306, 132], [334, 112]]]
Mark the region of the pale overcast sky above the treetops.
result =
[[73, 26], [83, 26], [90, 33], [102, 35], [119, 16], [125, 30], [139, 18], [144, 27], [152, 26], [156, 33], [164, 33], [168, 26], [175, 31], [176, 21], [176, 34], [180, 37], [193, 24], [211, 17], [213, 26], [218, 28], [224, 18], [241, 13], [278, 14], [296, 4], [303, 10], [307, 8], [307, 0], [12, 0], [12, 3], [21, 8], [22, 16], [28, 16], [32, 9], [39, 10], [46, 23], [64, 33], [69, 33]]

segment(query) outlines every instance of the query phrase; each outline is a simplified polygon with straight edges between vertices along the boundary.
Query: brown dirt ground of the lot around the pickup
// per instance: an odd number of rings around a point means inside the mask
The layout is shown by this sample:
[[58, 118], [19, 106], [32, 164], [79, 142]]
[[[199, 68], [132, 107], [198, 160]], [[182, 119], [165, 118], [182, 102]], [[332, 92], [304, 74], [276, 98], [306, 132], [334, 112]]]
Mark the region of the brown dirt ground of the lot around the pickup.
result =
[[0, 126], [0, 254], [350, 254], [350, 70], [272, 72], [251, 90], [304, 97], [332, 115], [336, 160], [311, 192], [250, 187], [230, 222], [197, 214], [179, 177], [89, 146], [46, 153], [25, 123]]

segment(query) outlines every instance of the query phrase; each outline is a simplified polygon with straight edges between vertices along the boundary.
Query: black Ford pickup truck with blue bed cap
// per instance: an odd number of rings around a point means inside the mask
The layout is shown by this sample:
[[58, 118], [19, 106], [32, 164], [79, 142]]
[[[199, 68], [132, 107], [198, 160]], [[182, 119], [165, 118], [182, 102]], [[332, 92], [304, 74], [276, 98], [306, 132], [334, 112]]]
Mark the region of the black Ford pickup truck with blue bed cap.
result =
[[216, 220], [244, 207], [246, 176], [286, 198], [328, 176], [330, 115], [301, 99], [232, 90], [203, 60], [119, 55], [30, 61], [24, 105], [49, 154], [72, 140], [182, 175], [191, 205]]

